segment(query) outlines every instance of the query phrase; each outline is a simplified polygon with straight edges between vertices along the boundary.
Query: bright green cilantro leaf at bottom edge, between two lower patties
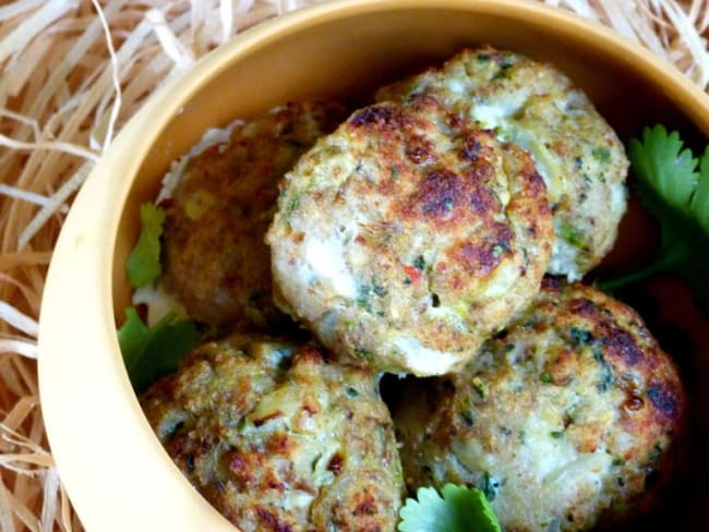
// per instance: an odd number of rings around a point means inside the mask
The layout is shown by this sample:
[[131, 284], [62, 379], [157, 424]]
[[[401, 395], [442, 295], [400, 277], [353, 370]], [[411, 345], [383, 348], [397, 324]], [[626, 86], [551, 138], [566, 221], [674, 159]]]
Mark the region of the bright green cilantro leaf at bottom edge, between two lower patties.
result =
[[446, 484], [441, 492], [443, 497], [433, 487], [420, 487], [418, 500], [407, 498], [399, 532], [501, 532], [480, 489]]

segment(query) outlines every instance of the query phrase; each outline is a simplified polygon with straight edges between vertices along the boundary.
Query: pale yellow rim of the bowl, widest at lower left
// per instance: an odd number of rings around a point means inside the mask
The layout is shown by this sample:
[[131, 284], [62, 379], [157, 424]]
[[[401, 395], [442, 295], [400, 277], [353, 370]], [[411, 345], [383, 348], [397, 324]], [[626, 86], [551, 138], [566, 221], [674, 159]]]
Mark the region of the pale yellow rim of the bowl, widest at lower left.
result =
[[[578, 40], [598, 53], [614, 58], [623, 53], [628, 65], [662, 87], [681, 112], [709, 133], [709, 97], [675, 66], [605, 26], [541, 2], [336, 0], [262, 22], [212, 51], [158, 89], [122, 128], [75, 198], [48, 270], [38, 335], [39, 392], [56, 466], [88, 530], [235, 530], [202, 497], [194, 496], [194, 488], [158, 445], [132, 391], [118, 348], [111, 301], [122, 209], [97, 209], [96, 203], [124, 204], [132, 185], [125, 176], [135, 176], [148, 146], [180, 112], [182, 102], [240, 58], [317, 22], [420, 9], [483, 11], [562, 25], [564, 33], [577, 34]], [[109, 297], [96, 298], [97, 293]], [[141, 482], [136, 483], [139, 472]], [[117, 512], [117, 500], [128, 510]]]

